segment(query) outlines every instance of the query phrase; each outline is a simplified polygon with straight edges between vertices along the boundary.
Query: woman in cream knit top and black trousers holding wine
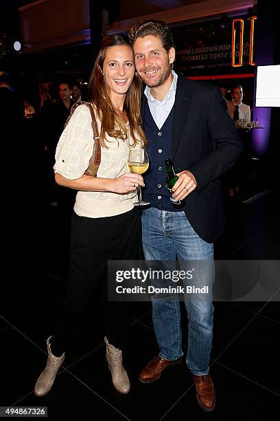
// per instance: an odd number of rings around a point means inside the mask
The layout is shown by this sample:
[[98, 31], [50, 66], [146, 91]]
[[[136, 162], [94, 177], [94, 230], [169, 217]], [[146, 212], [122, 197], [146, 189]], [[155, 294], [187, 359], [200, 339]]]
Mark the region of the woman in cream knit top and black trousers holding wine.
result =
[[130, 145], [145, 142], [140, 125], [141, 83], [135, 75], [132, 48], [121, 35], [105, 36], [93, 67], [89, 90], [100, 131], [101, 162], [97, 177], [84, 175], [93, 153], [91, 114], [75, 109], [60, 137], [54, 165], [56, 182], [78, 190], [71, 226], [67, 296], [54, 336], [47, 339], [47, 365], [36, 386], [45, 395], [78, 334], [86, 301], [102, 284], [106, 359], [113, 385], [128, 393], [130, 382], [122, 365], [128, 336], [128, 303], [107, 302], [106, 265], [113, 259], [139, 259], [140, 221], [133, 208], [141, 175], [128, 173]]

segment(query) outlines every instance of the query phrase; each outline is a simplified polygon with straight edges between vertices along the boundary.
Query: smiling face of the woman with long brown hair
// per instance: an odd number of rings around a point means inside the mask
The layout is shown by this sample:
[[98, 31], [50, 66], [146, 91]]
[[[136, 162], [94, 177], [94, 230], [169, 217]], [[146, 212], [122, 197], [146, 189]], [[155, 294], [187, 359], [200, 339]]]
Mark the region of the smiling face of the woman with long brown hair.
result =
[[128, 45], [108, 47], [103, 65], [104, 81], [114, 104], [125, 97], [135, 75], [132, 48]]

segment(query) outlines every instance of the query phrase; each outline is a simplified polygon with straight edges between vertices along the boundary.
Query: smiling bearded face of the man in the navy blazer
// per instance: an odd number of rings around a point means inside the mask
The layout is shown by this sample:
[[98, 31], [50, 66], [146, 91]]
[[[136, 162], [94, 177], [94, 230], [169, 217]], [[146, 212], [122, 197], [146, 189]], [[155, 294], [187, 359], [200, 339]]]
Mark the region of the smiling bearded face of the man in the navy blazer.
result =
[[136, 39], [133, 51], [137, 72], [143, 82], [149, 87], [163, 85], [171, 74], [174, 47], [167, 52], [158, 36], [148, 35]]

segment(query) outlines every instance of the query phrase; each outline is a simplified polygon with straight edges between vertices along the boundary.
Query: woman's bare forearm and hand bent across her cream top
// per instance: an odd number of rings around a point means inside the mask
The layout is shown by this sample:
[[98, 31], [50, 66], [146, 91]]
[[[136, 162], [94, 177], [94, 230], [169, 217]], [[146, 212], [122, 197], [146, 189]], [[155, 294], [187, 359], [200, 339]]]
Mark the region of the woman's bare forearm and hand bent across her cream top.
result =
[[124, 194], [129, 191], [135, 191], [138, 184], [145, 186], [143, 177], [132, 173], [126, 173], [117, 178], [99, 178], [84, 174], [76, 180], [68, 180], [60, 173], [56, 173], [55, 179], [60, 186], [79, 191], [106, 191]]

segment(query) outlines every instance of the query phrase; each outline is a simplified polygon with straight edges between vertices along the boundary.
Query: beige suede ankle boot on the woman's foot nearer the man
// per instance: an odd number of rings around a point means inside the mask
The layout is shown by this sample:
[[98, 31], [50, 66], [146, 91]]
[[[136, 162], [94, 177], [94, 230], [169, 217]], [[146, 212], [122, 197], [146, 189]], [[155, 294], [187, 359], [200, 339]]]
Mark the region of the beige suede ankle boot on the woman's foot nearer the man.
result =
[[119, 393], [128, 393], [130, 391], [130, 382], [128, 374], [122, 365], [122, 352], [120, 349], [110, 345], [106, 336], [104, 341], [106, 343], [106, 360], [112, 374], [113, 385]]

